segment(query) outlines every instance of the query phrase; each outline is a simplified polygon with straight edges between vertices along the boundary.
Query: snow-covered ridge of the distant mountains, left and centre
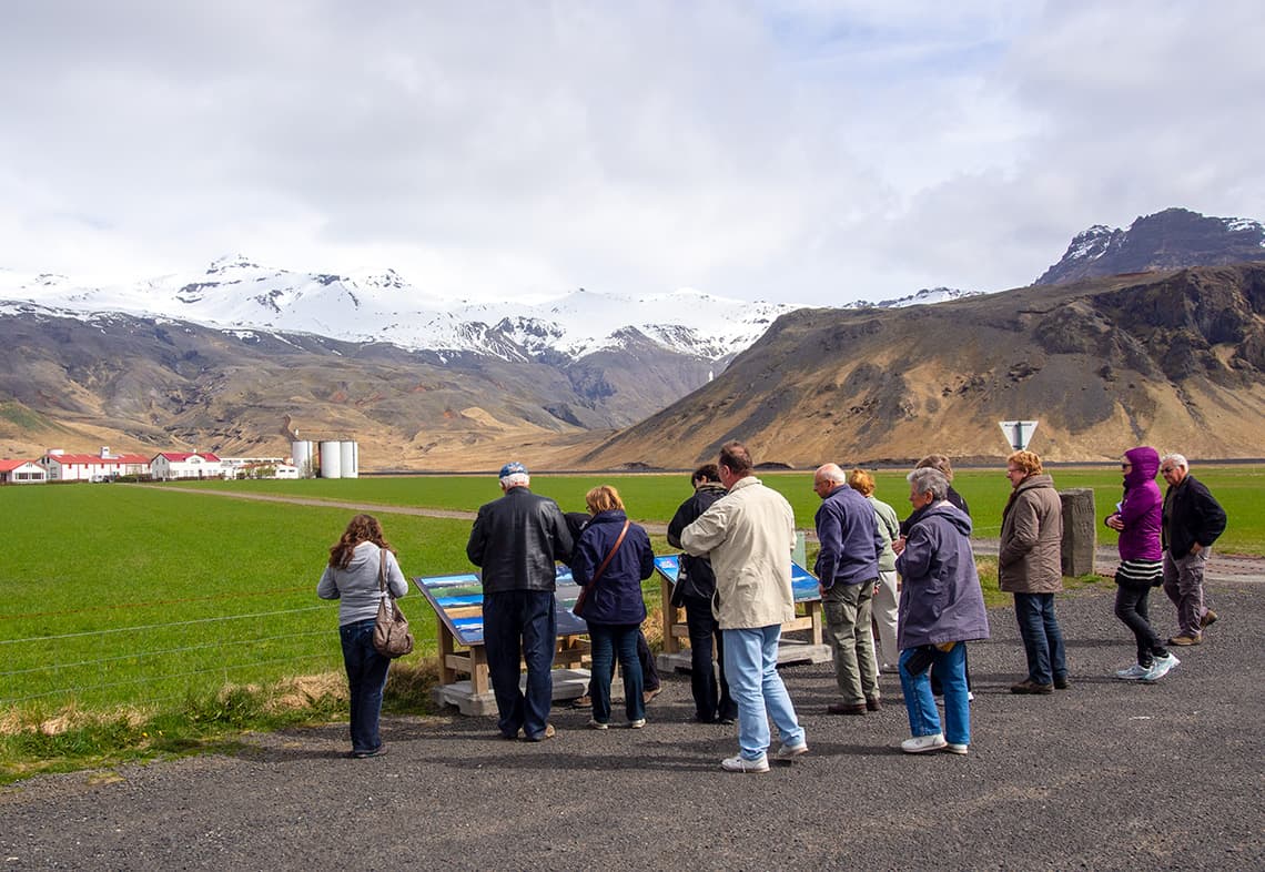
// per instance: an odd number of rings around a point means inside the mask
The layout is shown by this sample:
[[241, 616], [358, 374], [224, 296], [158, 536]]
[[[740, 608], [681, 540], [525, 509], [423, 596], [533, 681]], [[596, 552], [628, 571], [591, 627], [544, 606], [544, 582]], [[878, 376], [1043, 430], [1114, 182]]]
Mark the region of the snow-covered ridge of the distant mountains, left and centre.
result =
[[630, 328], [669, 351], [720, 359], [760, 338], [778, 315], [799, 308], [741, 302], [688, 289], [638, 299], [578, 289], [535, 304], [444, 300], [391, 270], [359, 276], [306, 273], [261, 266], [239, 254], [221, 257], [197, 275], [114, 286], [0, 270], [0, 300], [5, 299], [62, 314], [121, 311], [506, 361], [550, 353], [578, 359], [625, 344]]

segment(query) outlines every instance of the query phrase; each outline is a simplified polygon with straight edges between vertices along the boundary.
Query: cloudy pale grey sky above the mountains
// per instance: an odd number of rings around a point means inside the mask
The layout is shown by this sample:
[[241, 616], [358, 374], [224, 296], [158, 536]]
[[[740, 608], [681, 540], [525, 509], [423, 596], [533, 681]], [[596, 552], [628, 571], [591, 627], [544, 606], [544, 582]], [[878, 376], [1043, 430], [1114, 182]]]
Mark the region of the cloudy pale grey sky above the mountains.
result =
[[1026, 285], [1265, 218], [1259, 0], [15, 0], [0, 267], [454, 299]]

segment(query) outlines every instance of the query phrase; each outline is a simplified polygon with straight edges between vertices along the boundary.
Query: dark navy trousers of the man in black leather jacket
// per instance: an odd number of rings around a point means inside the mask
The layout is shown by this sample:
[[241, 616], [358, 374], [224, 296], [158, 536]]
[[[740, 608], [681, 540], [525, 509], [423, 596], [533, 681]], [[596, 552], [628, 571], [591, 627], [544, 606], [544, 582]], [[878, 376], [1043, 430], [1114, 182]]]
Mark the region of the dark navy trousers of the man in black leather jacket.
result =
[[[539, 738], [553, 705], [553, 656], [558, 616], [553, 591], [501, 591], [483, 595], [483, 648], [496, 696], [501, 735], [519, 729]], [[519, 690], [519, 662], [528, 664], [528, 692]]]

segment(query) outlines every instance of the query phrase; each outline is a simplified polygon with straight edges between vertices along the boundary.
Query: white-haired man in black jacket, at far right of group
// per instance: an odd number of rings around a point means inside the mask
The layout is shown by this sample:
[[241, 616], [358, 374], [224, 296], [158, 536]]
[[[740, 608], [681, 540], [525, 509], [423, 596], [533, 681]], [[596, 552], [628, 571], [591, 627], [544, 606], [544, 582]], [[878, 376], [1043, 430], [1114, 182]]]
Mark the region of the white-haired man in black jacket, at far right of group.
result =
[[1182, 632], [1169, 639], [1170, 645], [1197, 645], [1203, 642], [1203, 628], [1217, 620], [1208, 607], [1203, 591], [1203, 567], [1212, 553], [1212, 543], [1226, 530], [1226, 510], [1208, 492], [1208, 487], [1189, 472], [1182, 454], [1168, 454], [1160, 461], [1160, 475], [1169, 489], [1164, 494], [1164, 592], [1178, 607]]

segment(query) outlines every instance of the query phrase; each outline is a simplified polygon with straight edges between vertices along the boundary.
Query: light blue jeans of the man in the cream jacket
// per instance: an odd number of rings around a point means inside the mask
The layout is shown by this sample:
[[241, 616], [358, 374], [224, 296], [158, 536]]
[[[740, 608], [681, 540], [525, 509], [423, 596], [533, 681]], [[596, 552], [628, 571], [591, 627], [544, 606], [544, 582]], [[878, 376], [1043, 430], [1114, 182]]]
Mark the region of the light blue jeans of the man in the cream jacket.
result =
[[805, 740], [803, 728], [778, 675], [778, 639], [782, 625], [724, 630], [725, 676], [737, 702], [737, 747], [743, 759], [756, 761], [769, 747], [769, 718], [778, 728], [782, 744]]

